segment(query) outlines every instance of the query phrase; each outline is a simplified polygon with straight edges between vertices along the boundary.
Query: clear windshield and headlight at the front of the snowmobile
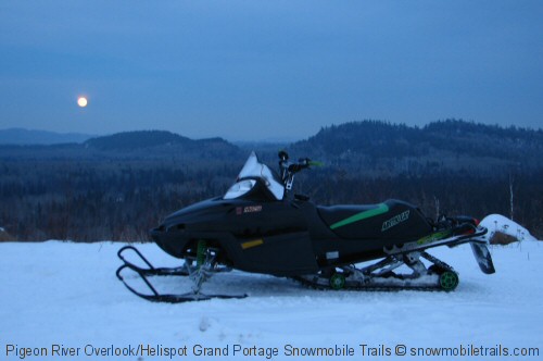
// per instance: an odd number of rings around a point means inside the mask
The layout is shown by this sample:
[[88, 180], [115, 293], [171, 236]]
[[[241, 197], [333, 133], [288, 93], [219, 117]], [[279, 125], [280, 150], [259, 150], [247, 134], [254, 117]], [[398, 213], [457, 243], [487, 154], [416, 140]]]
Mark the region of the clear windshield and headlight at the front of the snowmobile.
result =
[[282, 199], [285, 186], [266, 164], [258, 161], [254, 151], [249, 155], [236, 183], [226, 191], [224, 199], [240, 198], [249, 194], [257, 185], [258, 180], [266, 186], [276, 200]]

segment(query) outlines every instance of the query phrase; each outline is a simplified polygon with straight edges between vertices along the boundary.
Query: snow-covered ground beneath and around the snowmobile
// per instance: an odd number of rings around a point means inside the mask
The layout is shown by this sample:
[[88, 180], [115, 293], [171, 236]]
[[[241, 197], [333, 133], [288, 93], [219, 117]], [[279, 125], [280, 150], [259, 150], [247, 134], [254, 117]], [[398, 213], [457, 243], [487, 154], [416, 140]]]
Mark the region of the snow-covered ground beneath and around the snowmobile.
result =
[[[496, 352], [534, 352], [529, 348], [539, 348], [539, 356], [514, 359], [543, 357], [540, 241], [492, 247], [497, 272], [490, 276], [480, 272], [467, 245], [433, 250], [460, 274], [450, 294], [319, 291], [286, 278], [231, 272], [216, 275], [205, 289], [250, 297], [181, 304], [130, 294], [115, 277], [122, 246], [0, 244], [0, 359], [495, 360]], [[153, 244], [138, 247], [156, 264], [177, 262]], [[164, 282], [188, 287], [186, 281]], [[134, 354], [141, 348], [143, 354]], [[198, 356], [210, 352], [216, 356]], [[293, 348], [328, 356], [289, 356]], [[411, 356], [439, 348], [456, 357]], [[78, 356], [62, 356], [63, 350]], [[174, 350], [186, 356], [171, 357]], [[406, 357], [395, 356], [404, 350]], [[96, 352], [110, 357], [87, 356]]]

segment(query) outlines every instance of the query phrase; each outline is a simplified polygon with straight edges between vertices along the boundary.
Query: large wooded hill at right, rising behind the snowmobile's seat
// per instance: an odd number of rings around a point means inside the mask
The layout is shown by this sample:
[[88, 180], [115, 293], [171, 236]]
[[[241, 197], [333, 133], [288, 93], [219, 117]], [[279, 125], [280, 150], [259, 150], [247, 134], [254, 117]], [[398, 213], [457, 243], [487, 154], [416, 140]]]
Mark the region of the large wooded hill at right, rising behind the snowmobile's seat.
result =
[[380, 121], [332, 125], [289, 149], [367, 175], [543, 170], [543, 130], [458, 120], [424, 127]]

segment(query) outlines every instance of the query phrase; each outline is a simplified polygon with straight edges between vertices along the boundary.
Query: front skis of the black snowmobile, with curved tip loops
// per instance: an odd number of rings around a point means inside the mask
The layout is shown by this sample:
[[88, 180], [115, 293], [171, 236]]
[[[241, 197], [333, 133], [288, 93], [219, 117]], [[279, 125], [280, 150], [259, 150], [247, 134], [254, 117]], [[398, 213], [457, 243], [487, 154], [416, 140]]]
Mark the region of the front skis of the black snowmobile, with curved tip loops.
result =
[[[124, 252], [127, 250], [134, 251], [147, 265], [148, 267], [140, 267], [132, 262], [129, 262], [124, 257]], [[131, 291], [134, 295], [139, 296], [148, 301], [152, 302], [166, 302], [166, 303], [181, 303], [191, 301], [205, 301], [210, 299], [232, 299], [232, 298], [245, 298], [247, 295], [205, 295], [200, 292], [200, 286], [205, 278], [200, 273], [205, 272], [202, 267], [193, 267], [187, 262], [180, 267], [154, 267], [149, 260], [141, 254], [141, 252], [134, 246], [125, 246], [117, 251], [117, 257], [123, 261], [123, 264], [117, 269], [116, 276], [125, 285], [125, 287]], [[136, 290], [131, 287], [123, 277], [122, 273], [124, 270], [130, 270], [136, 273], [141, 281], [147, 285], [152, 295], [147, 295]], [[215, 272], [225, 272], [228, 270], [218, 270]], [[187, 294], [160, 294], [156, 288], [151, 284], [148, 276], [190, 276], [194, 279], [202, 279], [199, 282], [198, 286], [193, 288], [193, 291]], [[209, 276], [207, 276], [209, 277]]]

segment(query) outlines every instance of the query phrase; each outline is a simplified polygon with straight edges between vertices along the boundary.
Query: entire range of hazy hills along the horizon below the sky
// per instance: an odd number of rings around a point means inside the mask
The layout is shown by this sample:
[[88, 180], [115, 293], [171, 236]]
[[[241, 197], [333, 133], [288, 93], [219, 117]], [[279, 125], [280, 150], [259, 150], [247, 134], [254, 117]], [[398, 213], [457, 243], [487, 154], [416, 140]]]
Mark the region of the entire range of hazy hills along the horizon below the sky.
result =
[[[11, 135], [10, 135], [11, 134]], [[33, 136], [34, 145], [16, 134]], [[9, 138], [1, 142], [0, 158], [16, 159], [198, 159], [242, 161], [256, 150], [267, 163], [277, 161], [277, 151], [310, 157], [326, 164], [327, 171], [343, 170], [354, 176], [428, 175], [452, 172], [492, 176], [495, 173], [543, 172], [543, 130], [477, 124], [459, 120], [430, 123], [424, 127], [381, 121], [352, 122], [323, 127], [314, 136], [293, 142], [254, 142], [240, 147], [223, 139], [190, 139], [166, 130], [138, 130], [87, 138], [56, 135], [56, 144], [39, 142], [39, 134], [24, 129], [0, 130]], [[29, 138], [27, 138], [29, 139]], [[76, 139], [83, 142], [61, 144]], [[48, 141], [54, 139], [49, 138]], [[270, 164], [272, 164], [270, 163]]]

